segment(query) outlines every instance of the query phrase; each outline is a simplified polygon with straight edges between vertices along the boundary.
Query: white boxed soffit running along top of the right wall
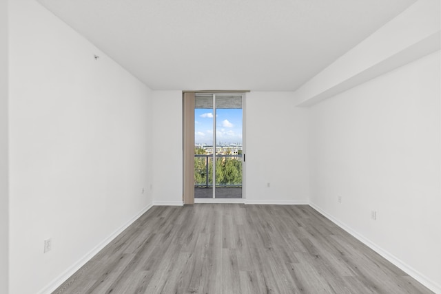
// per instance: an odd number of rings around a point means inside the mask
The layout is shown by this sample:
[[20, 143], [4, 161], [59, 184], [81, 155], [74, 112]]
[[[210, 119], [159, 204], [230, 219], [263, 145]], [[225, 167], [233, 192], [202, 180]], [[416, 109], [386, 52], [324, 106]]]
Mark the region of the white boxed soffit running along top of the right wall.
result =
[[416, 1], [302, 85], [294, 99], [313, 105], [440, 50], [440, 29], [440, 1]]

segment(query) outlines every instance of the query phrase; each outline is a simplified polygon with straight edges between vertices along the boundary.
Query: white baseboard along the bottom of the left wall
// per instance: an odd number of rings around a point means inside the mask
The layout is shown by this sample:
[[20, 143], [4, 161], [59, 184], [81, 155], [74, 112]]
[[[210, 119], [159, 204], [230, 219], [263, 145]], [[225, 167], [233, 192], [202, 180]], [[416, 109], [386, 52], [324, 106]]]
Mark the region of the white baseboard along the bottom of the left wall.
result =
[[153, 204], [150, 203], [147, 205], [147, 207], [144, 207], [139, 213], [136, 213], [136, 216], [131, 218], [129, 221], [127, 221], [123, 226], [119, 227], [116, 231], [114, 231], [112, 234], [110, 234], [107, 238], [105, 238], [103, 241], [101, 241], [98, 245], [94, 247], [91, 251], [89, 251], [86, 255], [83, 256], [79, 261], [75, 262], [70, 266], [68, 269], [66, 269], [61, 275], [59, 275], [55, 280], [50, 282], [48, 286], [45, 286], [43, 289], [41, 289], [38, 294], [49, 294], [55, 291], [65, 280], [68, 280], [69, 277], [71, 277], [76, 271], [78, 271], [81, 266], [86, 264], [91, 258], [93, 258], [101, 249], [103, 249], [107, 244], [109, 244], [114, 238], [116, 238], [117, 235], [119, 235], [122, 231], [127, 229], [127, 227], [130, 226], [135, 220], [140, 218], [147, 210], [153, 207]]

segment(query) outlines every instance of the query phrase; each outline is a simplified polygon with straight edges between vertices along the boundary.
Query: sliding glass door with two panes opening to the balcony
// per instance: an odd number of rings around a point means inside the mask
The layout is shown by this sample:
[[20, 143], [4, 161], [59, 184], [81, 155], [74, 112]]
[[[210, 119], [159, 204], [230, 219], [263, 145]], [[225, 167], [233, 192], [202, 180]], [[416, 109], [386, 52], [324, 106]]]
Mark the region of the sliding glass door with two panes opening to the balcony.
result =
[[243, 94], [196, 94], [194, 198], [242, 198]]

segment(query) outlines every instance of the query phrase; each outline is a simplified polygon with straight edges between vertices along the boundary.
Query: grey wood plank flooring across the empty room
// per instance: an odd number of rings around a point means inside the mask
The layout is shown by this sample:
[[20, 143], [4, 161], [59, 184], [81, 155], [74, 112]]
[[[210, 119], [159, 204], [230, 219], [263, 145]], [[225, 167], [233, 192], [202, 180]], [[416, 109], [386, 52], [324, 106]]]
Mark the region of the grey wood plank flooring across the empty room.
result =
[[432, 293], [308, 205], [153, 207], [54, 293]]

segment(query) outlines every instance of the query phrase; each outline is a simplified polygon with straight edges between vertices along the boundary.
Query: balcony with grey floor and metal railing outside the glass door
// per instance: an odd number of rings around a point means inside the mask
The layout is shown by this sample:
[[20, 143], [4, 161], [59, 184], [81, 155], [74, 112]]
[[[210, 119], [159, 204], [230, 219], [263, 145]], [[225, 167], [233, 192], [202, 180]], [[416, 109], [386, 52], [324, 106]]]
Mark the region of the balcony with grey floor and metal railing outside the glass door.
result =
[[[242, 154], [216, 154], [216, 198], [242, 198]], [[194, 155], [194, 198], [213, 198], [213, 156]]]

